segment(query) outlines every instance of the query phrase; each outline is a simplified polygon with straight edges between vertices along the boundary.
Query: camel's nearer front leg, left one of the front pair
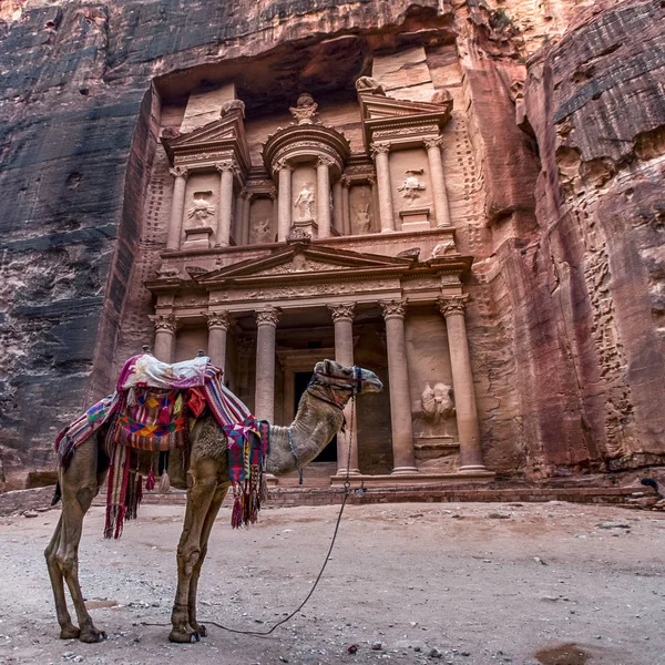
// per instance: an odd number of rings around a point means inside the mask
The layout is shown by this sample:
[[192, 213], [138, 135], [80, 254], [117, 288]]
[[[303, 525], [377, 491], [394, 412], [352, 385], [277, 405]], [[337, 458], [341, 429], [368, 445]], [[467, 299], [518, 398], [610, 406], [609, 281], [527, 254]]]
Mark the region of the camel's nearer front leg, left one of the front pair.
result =
[[194, 567], [201, 557], [201, 535], [217, 490], [217, 474], [196, 478], [192, 471], [188, 473], [192, 484], [187, 489], [185, 524], [177, 545], [177, 590], [171, 614], [173, 628], [168, 640], [194, 643], [198, 641], [198, 633], [190, 624], [190, 585]]

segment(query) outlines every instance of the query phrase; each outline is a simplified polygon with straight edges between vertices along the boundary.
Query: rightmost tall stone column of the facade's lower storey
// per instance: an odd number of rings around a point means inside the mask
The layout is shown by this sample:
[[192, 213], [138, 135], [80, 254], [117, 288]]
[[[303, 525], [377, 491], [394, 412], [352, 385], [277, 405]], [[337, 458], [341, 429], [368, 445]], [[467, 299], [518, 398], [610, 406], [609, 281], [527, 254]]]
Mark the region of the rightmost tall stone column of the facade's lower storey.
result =
[[460, 472], [487, 471], [482, 460], [480, 426], [473, 391], [471, 357], [467, 340], [464, 309], [469, 295], [439, 298], [439, 309], [446, 317], [450, 367], [452, 370], [452, 390], [460, 437]]

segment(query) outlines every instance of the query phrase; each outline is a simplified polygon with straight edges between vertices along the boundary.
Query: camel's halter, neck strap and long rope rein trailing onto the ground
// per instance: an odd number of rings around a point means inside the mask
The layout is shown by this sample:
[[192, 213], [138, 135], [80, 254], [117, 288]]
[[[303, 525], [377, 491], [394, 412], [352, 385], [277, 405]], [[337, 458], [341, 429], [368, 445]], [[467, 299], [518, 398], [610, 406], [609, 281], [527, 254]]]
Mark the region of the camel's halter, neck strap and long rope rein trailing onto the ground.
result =
[[[330, 540], [330, 546], [328, 548], [328, 552], [326, 553], [326, 559], [324, 560], [324, 564], [321, 565], [321, 569], [318, 573], [318, 575], [316, 576], [316, 580], [314, 581], [314, 584], [311, 585], [311, 589], [309, 590], [309, 593], [305, 596], [305, 600], [288, 615], [285, 616], [283, 620], [278, 621], [276, 624], [273, 625], [272, 628], [267, 630], [267, 631], [243, 631], [241, 628], [232, 628], [229, 626], [225, 626], [221, 623], [217, 623], [216, 621], [209, 620], [209, 618], [203, 618], [202, 623], [204, 624], [208, 624], [211, 626], [215, 626], [217, 628], [222, 628], [223, 631], [226, 631], [228, 633], [238, 633], [241, 635], [270, 635], [276, 628], [278, 628], [279, 626], [284, 625], [285, 623], [287, 623], [288, 621], [290, 621], [296, 614], [298, 614], [298, 612], [300, 612], [300, 610], [303, 610], [303, 607], [305, 607], [305, 605], [307, 604], [307, 602], [309, 601], [309, 598], [314, 595], [314, 592], [316, 591], [316, 587], [318, 586], [318, 583], [320, 582], [323, 575], [324, 575], [324, 571], [326, 570], [326, 566], [328, 565], [328, 561], [330, 561], [330, 554], [332, 554], [332, 548], [335, 548], [335, 541], [337, 540], [337, 532], [339, 531], [339, 524], [341, 522], [341, 515], [344, 514], [344, 508], [346, 505], [347, 499], [349, 498], [349, 490], [351, 487], [351, 481], [349, 479], [350, 475], [350, 470], [351, 470], [351, 446], [352, 446], [352, 441], [354, 441], [354, 417], [356, 413], [356, 395], [358, 395], [360, 392], [360, 381], [362, 381], [364, 379], [360, 378], [360, 372], [361, 369], [357, 366], [354, 366], [354, 378], [352, 379], [342, 379], [342, 380], [349, 380], [349, 381], [354, 381], [355, 385], [350, 385], [350, 386], [341, 386], [341, 385], [336, 385], [336, 383], [324, 383], [320, 381], [316, 381], [315, 377], [316, 375], [314, 375], [314, 377], [311, 378], [311, 380], [309, 381], [309, 386], [313, 385], [319, 385], [319, 386], [335, 386], [336, 388], [339, 389], [344, 389], [344, 390], [351, 390], [351, 397], [350, 397], [350, 403], [351, 403], [351, 419], [350, 419], [350, 427], [349, 427], [349, 433], [348, 433], [348, 446], [347, 446], [347, 467], [346, 467], [346, 478], [344, 481], [344, 494], [341, 498], [341, 505], [339, 507], [339, 514], [337, 515], [337, 521], [335, 522], [335, 530], [332, 531], [332, 538]], [[320, 375], [324, 377], [327, 377], [328, 375]], [[339, 377], [330, 377], [330, 378], [339, 378]], [[318, 397], [316, 395], [314, 395], [313, 397]], [[328, 401], [321, 397], [318, 397], [318, 399], [320, 399], [321, 401]], [[344, 409], [344, 406], [334, 403], [334, 402], [329, 402], [332, 406], [338, 407], [339, 409]], [[294, 459], [296, 460], [296, 469], [298, 470], [298, 483], [303, 484], [303, 468], [300, 467], [300, 461], [298, 459], [298, 454], [296, 452], [296, 449], [294, 447], [294, 441], [293, 441], [293, 436], [291, 436], [291, 429], [290, 426], [287, 428], [288, 431], [288, 446], [290, 448], [291, 454], [294, 456]], [[168, 623], [150, 623], [150, 622], [145, 622], [142, 621], [141, 625], [143, 626], [170, 626], [171, 624]]]

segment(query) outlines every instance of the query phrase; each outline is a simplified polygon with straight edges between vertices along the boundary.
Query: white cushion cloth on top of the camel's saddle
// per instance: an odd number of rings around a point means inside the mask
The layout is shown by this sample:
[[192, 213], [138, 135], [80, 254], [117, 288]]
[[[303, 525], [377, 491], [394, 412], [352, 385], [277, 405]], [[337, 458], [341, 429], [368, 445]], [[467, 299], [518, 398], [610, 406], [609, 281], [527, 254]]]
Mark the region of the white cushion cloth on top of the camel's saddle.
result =
[[205, 385], [205, 370], [211, 359], [207, 356], [170, 365], [150, 354], [139, 356], [130, 376], [120, 388], [129, 390], [137, 386], [150, 388], [196, 388]]

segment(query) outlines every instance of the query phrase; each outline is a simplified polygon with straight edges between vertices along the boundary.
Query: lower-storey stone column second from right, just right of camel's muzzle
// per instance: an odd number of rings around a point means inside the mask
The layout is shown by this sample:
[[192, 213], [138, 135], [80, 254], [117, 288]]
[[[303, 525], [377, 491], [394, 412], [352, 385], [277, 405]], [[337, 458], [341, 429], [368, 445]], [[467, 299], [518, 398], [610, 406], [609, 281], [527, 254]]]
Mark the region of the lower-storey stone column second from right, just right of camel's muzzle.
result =
[[390, 381], [390, 420], [392, 423], [393, 474], [416, 473], [413, 430], [411, 427], [411, 393], [405, 340], [406, 300], [379, 303], [386, 319], [388, 376]]

